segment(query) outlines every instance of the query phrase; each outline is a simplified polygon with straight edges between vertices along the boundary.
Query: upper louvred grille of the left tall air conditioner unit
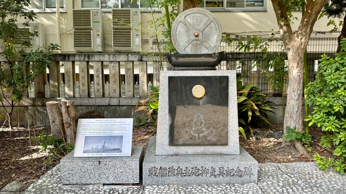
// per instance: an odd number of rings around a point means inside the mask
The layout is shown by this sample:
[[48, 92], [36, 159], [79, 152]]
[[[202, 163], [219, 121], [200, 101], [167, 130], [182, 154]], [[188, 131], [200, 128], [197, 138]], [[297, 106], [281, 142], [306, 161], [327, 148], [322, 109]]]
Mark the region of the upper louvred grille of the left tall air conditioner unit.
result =
[[73, 29], [92, 29], [90, 9], [73, 10]]

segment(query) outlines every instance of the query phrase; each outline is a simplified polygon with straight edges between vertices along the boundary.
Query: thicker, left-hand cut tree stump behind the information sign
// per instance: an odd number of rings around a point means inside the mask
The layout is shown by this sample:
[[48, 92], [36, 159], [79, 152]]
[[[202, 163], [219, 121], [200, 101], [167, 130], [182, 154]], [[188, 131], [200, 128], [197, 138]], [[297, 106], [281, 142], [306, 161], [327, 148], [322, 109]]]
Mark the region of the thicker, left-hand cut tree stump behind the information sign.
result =
[[64, 138], [63, 135], [63, 119], [60, 109], [60, 104], [55, 101], [47, 102], [47, 110], [49, 123], [51, 124], [52, 135], [56, 138]]

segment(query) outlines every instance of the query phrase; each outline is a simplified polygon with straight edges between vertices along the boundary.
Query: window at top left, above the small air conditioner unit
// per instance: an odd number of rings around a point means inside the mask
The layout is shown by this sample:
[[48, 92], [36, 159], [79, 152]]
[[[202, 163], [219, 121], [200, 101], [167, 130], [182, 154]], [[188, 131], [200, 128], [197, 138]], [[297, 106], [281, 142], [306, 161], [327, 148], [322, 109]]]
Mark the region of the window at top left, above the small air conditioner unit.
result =
[[[56, 11], [55, 0], [31, 0], [31, 5], [27, 7], [29, 10], [35, 11]], [[60, 0], [60, 11], [65, 11], [65, 0]]]

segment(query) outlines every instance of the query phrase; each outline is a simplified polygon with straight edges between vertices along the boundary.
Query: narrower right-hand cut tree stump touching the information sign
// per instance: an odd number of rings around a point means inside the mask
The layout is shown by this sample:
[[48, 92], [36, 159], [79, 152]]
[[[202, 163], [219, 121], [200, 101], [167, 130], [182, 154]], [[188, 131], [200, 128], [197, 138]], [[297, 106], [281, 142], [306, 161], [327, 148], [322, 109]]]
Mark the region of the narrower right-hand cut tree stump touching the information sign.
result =
[[64, 122], [64, 131], [66, 134], [66, 142], [70, 142], [74, 145], [76, 137], [76, 112], [74, 109], [74, 101], [71, 100], [61, 100], [61, 110]]

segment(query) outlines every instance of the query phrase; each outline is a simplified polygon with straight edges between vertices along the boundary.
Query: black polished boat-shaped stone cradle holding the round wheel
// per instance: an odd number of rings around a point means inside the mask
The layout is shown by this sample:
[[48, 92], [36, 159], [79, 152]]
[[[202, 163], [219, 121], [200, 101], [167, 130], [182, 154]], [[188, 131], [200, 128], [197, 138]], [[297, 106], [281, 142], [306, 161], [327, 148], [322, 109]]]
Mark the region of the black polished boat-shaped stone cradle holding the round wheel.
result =
[[225, 51], [213, 54], [167, 53], [167, 60], [173, 70], [216, 70], [224, 59]]

